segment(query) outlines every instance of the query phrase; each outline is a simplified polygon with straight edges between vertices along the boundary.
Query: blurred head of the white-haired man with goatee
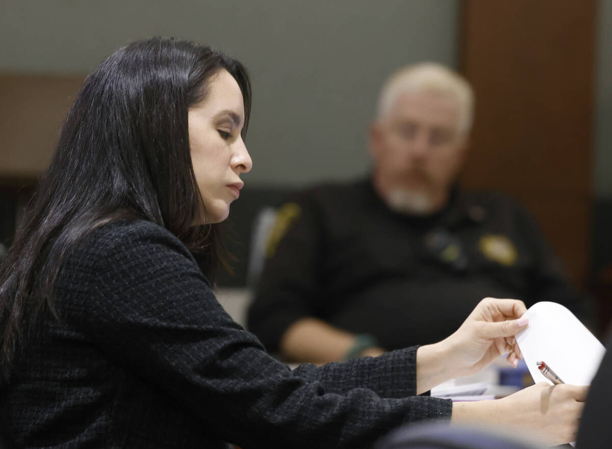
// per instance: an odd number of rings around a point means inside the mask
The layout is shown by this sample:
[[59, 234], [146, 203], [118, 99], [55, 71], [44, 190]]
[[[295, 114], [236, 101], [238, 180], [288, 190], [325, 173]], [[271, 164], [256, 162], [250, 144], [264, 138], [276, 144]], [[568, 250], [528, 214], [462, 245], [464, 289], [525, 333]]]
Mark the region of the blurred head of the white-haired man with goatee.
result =
[[370, 150], [375, 189], [392, 210], [427, 215], [446, 205], [465, 160], [473, 103], [469, 84], [441, 65], [404, 68], [387, 81]]

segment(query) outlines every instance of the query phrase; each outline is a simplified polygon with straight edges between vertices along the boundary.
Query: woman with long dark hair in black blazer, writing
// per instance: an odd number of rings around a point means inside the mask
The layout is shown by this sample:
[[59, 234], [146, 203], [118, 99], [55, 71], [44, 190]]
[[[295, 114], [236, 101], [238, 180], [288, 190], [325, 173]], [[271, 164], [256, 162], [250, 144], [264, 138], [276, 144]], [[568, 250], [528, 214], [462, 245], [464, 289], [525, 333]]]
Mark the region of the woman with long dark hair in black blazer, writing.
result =
[[[0, 407], [18, 447], [369, 447], [414, 420], [572, 439], [584, 389], [416, 396], [520, 356], [520, 301], [483, 300], [434, 345], [289, 370], [211, 291], [216, 225], [251, 169], [247, 71], [152, 38], [84, 82], [0, 271]], [[193, 257], [206, 261], [201, 268]], [[547, 392], [547, 410], [542, 411]]]

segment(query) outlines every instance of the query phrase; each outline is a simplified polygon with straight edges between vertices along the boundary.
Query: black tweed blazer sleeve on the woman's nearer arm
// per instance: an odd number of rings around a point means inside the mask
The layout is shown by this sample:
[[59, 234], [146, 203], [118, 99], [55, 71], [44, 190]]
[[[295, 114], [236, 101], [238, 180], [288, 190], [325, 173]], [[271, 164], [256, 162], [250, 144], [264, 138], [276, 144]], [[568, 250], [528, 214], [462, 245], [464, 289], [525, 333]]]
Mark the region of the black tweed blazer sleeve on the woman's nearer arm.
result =
[[412, 396], [416, 348], [289, 370], [235, 323], [187, 249], [155, 225], [83, 252], [75, 305], [108, 357], [176, 398], [219, 439], [246, 447], [370, 447], [402, 423], [449, 420], [451, 403]]

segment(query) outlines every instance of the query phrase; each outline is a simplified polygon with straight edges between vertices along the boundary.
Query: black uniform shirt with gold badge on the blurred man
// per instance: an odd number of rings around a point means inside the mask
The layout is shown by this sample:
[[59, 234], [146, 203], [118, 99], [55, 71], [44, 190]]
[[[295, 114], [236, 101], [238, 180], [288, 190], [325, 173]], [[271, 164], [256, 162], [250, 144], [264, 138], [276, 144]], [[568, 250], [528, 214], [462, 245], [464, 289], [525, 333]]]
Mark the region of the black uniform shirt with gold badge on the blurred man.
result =
[[269, 351], [307, 316], [404, 348], [446, 338], [487, 296], [587, 313], [534, 219], [506, 197], [455, 189], [444, 210], [415, 217], [389, 210], [370, 179], [327, 184], [278, 211], [248, 326]]

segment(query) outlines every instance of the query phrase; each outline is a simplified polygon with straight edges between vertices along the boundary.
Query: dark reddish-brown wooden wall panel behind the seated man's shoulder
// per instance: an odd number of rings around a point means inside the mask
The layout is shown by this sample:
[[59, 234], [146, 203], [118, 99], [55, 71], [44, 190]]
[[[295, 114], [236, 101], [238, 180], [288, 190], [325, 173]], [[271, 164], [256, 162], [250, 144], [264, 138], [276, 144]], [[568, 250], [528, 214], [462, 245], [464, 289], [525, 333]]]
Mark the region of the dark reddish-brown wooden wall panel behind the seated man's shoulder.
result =
[[465, 0], [461, 71], [476, 90], [461, 183], [496, 189], [540, 220], [584, 285], [591, 224], [595, 1]]

